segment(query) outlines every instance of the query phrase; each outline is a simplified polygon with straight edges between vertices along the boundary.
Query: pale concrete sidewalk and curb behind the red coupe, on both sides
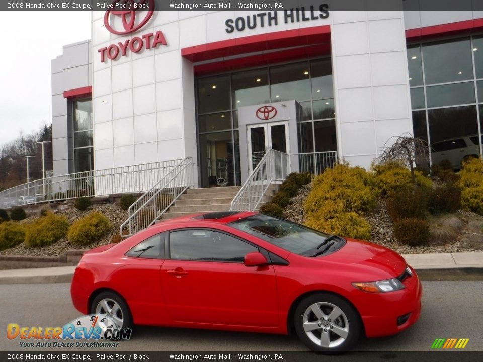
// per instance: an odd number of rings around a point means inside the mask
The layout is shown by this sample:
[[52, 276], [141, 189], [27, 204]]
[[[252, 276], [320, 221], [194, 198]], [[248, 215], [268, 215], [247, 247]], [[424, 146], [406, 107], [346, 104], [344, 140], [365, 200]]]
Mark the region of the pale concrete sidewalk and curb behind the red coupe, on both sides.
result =
[[[408, 264], [421, 272], [456, 272], [455, 269], [480, 269], [483, 274], [483, 251], [441, 254], [403, 255]], [[75, 266], [0, 270], [0, 284], [70, 283]]]

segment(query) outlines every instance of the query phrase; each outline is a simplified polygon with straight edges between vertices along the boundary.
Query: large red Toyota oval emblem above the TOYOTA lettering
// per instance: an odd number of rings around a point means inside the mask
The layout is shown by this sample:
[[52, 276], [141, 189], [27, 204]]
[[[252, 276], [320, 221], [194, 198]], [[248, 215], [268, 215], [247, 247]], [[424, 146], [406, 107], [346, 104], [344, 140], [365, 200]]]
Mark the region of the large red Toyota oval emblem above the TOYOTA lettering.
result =
[[[114, 0], [112, 9], [126, 9], [130, 11], [108, 10], [104, 15], [104, 25], [113, 34], [129, 34], [141, 29], [151, 19], [154, 13], [154, 0]], [[141, 11], [146, 11], [141, 20], [136, 19]], [[111, 15], [120, 16], [124, 29], [115, 29]], [[136, 21], [137, 20], [137, 21]], [[119, 27], [120, 24], [116, 24]]]

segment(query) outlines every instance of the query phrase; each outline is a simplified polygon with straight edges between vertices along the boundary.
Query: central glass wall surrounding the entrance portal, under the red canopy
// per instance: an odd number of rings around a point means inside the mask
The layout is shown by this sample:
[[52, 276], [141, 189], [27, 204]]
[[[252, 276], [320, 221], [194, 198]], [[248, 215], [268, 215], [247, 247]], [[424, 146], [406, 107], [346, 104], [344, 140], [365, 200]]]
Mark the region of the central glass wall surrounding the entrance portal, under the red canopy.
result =
[[241, 184], [239, 107], [296, 100], [299, 152], [337, 150], [330, 58], [199, 78], [197, 95], [202, 187]]

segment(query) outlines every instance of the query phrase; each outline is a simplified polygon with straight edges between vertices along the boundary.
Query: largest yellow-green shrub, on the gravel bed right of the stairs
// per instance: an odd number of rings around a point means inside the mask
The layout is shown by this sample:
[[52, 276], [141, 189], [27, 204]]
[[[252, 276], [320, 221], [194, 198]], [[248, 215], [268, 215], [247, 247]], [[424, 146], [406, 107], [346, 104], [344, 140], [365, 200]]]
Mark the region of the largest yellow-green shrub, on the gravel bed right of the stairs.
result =
[[[308, 217], [316, 217], [327, 203], [342, 202], [344, 212], [363, 212], [375, 204], [372, 177], [363, 168], [340, 164], [317, 176], [305, 200]], [[325, 215], [325, 213], [323, 213]]]

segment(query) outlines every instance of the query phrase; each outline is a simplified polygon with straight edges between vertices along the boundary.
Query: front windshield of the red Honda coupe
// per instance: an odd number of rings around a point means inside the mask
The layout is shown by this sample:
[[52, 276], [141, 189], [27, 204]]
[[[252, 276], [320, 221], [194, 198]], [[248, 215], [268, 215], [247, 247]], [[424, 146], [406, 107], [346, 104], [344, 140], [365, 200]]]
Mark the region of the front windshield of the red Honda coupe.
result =
[[282, 249], [299, 255], [315, 256], [330, 240], [342, 240], [332, 235], [265, 214], [256, 214], [228, 224], [229, 226], [257, 236]]

